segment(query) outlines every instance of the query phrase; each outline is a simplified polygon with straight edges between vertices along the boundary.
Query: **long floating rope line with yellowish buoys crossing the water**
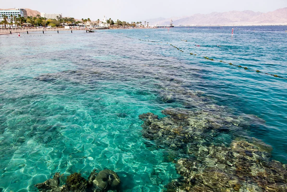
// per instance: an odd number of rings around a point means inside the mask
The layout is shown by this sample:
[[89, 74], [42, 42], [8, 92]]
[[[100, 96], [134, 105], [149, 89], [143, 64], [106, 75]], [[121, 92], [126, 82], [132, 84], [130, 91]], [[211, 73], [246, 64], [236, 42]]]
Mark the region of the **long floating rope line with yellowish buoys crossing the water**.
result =
[[[106, 34], [106, 33], [103, 33], [103, 34]], [[114, 35], [119, 35], [119, 34], [116, 34], [116, 33], [111, 33], [111, 34], [114, 34]], [[119, 36], [122, 36], [122, 37], [127, 37], [127, 36], [124, 36], [124, 35], [119, 35]], [[133, 37], [127, 37], [129, 39], [137, 39], [137, 38], [133, 38]], [[149, 41], [149, 40], [142, 40], [142, 39], [138, 39], [140, 41]], [[149, 42], [154, 42], [154, 43], [162, 43], [162, 41], [149, 41]], [[169, 44], [169, 43], [167, 43]], [[176, 48], [177, 50], [181, 51], [181, 52], [184, 52], [183, 50], [179, 49], [177, 46], [174, 46], [170, 43], [170, 45], [174, 48]], [[194, 53], [189, 53], [190, 55], [196, 55]], [[199, 56], [199, 55], [198, 55]], [[232, 64], [232, 63], [228, 63], [228, 62], [225, 62], [225, 61], [222, 61], [222, 60], [215, 60], [215, 59], [212, 59], [212, 58], [209, 58], [209, 57], [203, 57], [205, 59], [208, 59], [208, 60], [211, 60], [211, 61], [216, 61], [216, 62], [220, 62], [220, 63], [226, 63], [226, 64], [229, 64], [231, 66], [236, 66], [236, 67], [240, 67], [240, 68], [244, 68], [245, 70], [250, 70], [250, 71], [255, 71], [257, 73], [264, 73], [264, 74], [267, 74], [267, 75], [272, 75], [274, 77], [279, 77], [279, 78], [282, 78], [282, 79], [287, 79], [285, 77], [282, 77], [282, 76], [278, 76], [276, 74], [271, 74], [271, 73], [267, 73], [267, 72], [263, 72], [263, 71], [259, 71], [259, 70], [254, 70], [254, 69], [249, 69], [247, 67], [242, 67], [241, 65], [235, 65], [235, 64]]]

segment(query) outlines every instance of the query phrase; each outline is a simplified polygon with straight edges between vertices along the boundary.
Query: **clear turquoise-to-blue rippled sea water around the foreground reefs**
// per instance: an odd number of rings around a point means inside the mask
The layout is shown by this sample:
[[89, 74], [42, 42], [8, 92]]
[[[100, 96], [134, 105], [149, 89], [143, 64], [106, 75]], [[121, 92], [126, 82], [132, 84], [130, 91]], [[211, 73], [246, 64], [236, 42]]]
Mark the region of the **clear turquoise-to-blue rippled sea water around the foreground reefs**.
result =
[[287, 77], [287, 27], [231, 30], [1, 35], [0, 191], [37, 191], [55, 172], [87, 178], [94, 168], [115, 170], [123, 191], [164, 190], [179, 175], [142, 137], [138, 115], [187, 108], [179, 89], [253, 119], [247, 134], [287, 163], [287, 80], [202, 58]]

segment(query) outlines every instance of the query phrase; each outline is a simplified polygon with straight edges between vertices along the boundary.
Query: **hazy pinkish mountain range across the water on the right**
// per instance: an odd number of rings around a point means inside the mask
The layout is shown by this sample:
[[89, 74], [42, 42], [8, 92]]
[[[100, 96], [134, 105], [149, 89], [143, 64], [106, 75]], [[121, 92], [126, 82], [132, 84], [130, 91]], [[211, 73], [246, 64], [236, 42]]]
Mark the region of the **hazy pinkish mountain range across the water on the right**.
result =
[[194, 14], [191, 16], [154, 18], [142, 20], [149, 25], [168, 25], [172, 19], [174, 25], [286, 25], [287, 7], [267, 13], [254, 11], [228, 11], [223, 13]]

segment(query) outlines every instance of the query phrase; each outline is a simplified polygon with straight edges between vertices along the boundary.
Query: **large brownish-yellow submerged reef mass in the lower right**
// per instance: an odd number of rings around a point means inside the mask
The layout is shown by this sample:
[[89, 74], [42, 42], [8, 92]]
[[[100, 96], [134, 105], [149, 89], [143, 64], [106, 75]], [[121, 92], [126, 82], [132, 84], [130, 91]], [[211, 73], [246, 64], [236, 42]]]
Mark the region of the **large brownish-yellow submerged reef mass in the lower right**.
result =
[[[242, 118], [204, 110], [167, 109], [163, 118], [139, 115], [143, 136], [167, 150], [181, 178], [169, 192], [285, 192], [286, 165], [272, 160], [272, 147], [244, 134]], [[221, 134], [229, 140], [220, 140]]]

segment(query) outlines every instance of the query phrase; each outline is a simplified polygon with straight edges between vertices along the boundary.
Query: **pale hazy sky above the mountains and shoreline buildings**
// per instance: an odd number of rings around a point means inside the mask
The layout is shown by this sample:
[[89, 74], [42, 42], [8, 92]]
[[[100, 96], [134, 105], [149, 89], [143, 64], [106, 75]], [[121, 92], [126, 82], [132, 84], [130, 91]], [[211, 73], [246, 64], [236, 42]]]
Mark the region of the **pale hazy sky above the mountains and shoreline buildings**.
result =
[[0, 8], [30, 8], [45, 13], [62, 13], [63, 17], [136, 22], [150, 18], [189, 16], [213, 11], [274, 11], [287, 7], [287, 0], [1, 0]]

